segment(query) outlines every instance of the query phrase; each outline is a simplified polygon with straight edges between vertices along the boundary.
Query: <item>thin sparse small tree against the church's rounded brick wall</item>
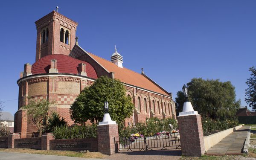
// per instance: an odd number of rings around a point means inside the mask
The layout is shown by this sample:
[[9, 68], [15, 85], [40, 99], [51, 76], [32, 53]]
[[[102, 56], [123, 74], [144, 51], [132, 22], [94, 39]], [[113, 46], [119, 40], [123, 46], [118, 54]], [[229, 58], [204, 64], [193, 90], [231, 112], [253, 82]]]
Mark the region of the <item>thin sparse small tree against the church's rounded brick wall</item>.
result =
[[42, 99], [41, 101], [30, 100], [28, 105], [23, 106], [23, 109], [27, 111], [28, 117], [32, 119], [32, 122], [38, 128], [39, 137], [42, 137], [42, 131], [48, 124], [48, 112], [50, 106], [53, 104], [55, 104], [55, 102]]

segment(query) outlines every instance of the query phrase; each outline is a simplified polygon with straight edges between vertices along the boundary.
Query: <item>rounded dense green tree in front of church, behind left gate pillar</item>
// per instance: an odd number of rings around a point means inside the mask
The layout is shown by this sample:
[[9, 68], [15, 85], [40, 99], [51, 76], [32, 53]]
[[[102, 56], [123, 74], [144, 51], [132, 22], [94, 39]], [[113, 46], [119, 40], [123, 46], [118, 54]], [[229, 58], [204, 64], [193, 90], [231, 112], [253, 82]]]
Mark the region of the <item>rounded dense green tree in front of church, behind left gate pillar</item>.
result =
[[71, 118], [76, 123], [99, 122], [103, 119], [104, 102], [108, 101], [112, 120], [122, 122], [132, 115], [134, 105], [131, 98], [125, 96], [125, 87], [117, 79], [99, 77], [93, 85], [82, 90], [70, 107]]

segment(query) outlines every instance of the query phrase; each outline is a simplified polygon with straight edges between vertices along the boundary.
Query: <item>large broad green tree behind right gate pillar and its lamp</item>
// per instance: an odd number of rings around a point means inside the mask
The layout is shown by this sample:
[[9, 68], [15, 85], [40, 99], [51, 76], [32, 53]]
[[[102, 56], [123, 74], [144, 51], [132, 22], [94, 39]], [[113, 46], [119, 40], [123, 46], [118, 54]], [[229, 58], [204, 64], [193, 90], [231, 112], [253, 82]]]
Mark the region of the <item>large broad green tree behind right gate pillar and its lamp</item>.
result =
[[[240, 99], [236, 101], [235, 87], [230, 81], [204, 80], [194, 78], [187, 83], [189, 102], [195, 111], [212, 119], [232, 117], [240, 107]], [[176, 97], [177, 111], [182, 111], [186, 101], [182, 92]]]

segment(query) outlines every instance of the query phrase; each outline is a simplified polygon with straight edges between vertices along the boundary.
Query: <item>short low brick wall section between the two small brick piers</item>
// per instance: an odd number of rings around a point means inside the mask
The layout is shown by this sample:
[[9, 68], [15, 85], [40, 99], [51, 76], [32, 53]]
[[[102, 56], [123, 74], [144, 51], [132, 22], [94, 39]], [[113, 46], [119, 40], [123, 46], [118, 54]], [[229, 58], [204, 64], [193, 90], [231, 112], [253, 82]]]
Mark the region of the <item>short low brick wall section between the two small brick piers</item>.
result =
[[41, 137], [15, 139], [15, 148], [41, 149]]

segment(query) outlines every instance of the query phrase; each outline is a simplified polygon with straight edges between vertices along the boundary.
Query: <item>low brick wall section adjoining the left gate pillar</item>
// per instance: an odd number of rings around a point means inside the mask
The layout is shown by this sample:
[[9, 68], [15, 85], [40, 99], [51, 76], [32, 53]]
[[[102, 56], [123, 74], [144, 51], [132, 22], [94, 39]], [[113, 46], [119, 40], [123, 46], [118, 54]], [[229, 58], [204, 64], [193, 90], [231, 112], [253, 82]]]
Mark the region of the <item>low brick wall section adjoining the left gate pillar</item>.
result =
[[65, 151], [98, 151], [97, 138], [82, 138], [70, 140], [50, 140], [50, 150]]

